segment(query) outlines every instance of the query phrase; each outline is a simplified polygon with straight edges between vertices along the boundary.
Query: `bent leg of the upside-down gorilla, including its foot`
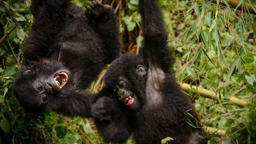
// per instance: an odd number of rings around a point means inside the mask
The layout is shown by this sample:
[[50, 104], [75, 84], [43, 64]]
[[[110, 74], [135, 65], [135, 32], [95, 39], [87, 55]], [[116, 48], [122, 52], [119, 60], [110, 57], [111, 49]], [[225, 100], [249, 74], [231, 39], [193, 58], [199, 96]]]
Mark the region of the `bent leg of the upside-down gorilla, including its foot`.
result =
[[106, 62], [112, 62], [120, 54], [121, 40], [119, 25], [114, 10], [109, 5], [102, 5], [100, 1], [92, 2], [87, 7], [87, 16], [95, 21], [96, 30], [102, 36], [105, 48]]

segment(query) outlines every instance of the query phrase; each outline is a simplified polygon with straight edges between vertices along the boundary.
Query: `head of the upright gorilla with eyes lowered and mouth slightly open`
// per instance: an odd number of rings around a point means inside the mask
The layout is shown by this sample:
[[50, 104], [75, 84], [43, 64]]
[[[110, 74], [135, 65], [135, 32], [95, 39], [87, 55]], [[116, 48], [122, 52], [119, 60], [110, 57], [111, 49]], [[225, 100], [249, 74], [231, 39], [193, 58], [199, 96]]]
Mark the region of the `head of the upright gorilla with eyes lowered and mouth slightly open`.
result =
[[146, 64], [140, 56], [125, 54], [110, 65], [106, 85], [113, 88], [116, 98], [127, 108], [137, 111], [145, 99], [146, 72]]

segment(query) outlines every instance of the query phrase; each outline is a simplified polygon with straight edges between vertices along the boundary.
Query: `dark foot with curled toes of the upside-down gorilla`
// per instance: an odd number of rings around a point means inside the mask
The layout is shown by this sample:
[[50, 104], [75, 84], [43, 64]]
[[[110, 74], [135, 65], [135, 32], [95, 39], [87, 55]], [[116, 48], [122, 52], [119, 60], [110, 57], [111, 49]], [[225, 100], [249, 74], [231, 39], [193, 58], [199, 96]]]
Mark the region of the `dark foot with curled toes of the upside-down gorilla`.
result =
[[87, 16], [91, 18], [92, 16], [98, 18], [104, 12], [107, 12], [111, 9], [110, 5], [103, 5], [99, 0], [97, 2], [92, 1], [91, 4], [86, 6]]

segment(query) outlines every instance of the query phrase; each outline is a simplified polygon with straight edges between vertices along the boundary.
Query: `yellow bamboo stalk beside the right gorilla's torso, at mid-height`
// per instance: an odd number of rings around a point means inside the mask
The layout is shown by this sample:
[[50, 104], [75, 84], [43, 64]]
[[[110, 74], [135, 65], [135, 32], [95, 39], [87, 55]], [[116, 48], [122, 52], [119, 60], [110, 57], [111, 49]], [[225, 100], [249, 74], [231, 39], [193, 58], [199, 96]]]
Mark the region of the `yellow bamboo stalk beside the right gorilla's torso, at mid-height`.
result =
[[[187, 84], [187, 83], [181, 84], [181, 88], [184, 91], [190, 90], [191, 92], [200, 94], [201, 96], [204, 96], [206, 98], [219, 98], [220, 97], [219, 94], [216, 94], [214, 91], [207, 90], [204, 88], [199, 88], [199, 87], [193, 86], [193, 85], [190, 87], [190, 84]], [[248, 104], [248, 102], [246, 100], [242, 100], [242, 99], [236, 98], [234, 96], [229, 96], [228, 99], [229, 99], [229, 102], [231, 102], [232, 104], [236, 104], [238, 106], [243, 107], [246, 104]]]

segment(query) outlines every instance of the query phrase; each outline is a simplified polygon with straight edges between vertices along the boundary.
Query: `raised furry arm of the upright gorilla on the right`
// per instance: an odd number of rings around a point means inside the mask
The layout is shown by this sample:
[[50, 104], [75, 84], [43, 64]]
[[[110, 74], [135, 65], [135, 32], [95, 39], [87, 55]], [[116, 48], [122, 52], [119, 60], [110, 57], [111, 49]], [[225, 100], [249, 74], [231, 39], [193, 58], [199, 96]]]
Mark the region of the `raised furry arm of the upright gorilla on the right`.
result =
[[142, 56], [157, 68], [168, 72], [175, 59], [167, 46], [168, 36], [164, 28], [161, 8], [156, 0], [139, 0], [142, 17]]

